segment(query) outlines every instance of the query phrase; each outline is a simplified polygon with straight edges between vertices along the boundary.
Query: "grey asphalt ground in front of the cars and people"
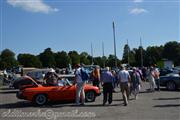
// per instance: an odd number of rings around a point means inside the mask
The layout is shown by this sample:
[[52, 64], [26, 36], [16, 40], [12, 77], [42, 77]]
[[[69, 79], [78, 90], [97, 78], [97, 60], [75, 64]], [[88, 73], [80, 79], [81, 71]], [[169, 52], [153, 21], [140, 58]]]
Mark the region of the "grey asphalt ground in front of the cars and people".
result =
[[102, 106], [102, 95], [85, 106], [74, 103], [49, 103], [38, 107], [16, 98], [16, 90], [0, 89], [0, 119], [3, 120], [180, 120], [180, 90], [147, 92], [143, 88], [137, 100], [131, 97], [123, 106], [119, 89], [113, 94], [113, 103]]

